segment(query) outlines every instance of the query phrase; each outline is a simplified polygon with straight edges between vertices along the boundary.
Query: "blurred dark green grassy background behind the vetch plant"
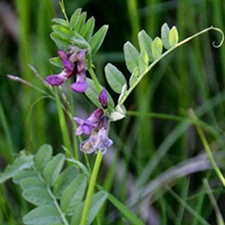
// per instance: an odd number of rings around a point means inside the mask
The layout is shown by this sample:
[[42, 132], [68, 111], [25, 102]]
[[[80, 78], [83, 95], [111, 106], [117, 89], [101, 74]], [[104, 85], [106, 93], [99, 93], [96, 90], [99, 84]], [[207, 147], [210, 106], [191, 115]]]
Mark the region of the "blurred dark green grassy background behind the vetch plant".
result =
[[[177, 26], [180, 40], [211, 25], [225, 31], [224, 0], [64, 2], [68, 16], [81, 7], [88, 18], [95, 17], [96, 28], [109, 25], [105, 42], [94, 58], [97, 76], [106, 87], [104, 66], [108, 62], [129, 79], [123, 45], [130, 41], [138, 48], [137, 34], [142, 29], [155, 38], [166, 22]], [[63, 17], [57, 0], [0, 1], [1, 171], [22, 149], [34, 153], [49, 143], [56, 152], [62, 151], [55, 102], [7, 78], [7, 74], [16, 75], [44, 89], [29, 65], [41, 77], [59, 72], [49, 63], [49, 58], [57, 55], [49, 36], [54, 17]], [[128, 116], [112, 123], [114, 149], [106, 154], [103, 165], [109, 173], [102, 174], [99, 182], [130, 207], [138, 190], [150, 190], [148, 198], [139, 199], [132, 208], [146, 224], [216, 224], [214, 206], [202, 183], [205, 177], [224, 210], [224, 188], [206, 160], [195, 128], [187, 122], [192, 108], [204, 121], [208, 142], [223, 170], [225, 45], [219, 49], [212, 46], [220, 40], [220, 34], [211, 31], [172, 52], [129, 97], [125, 103]], [[113, 97], [116, 101], [118, 96]], [[94, 109], [86, 103], [85, 96], [74, 97], [74, 113]], [[0, 186], [0, 196], [0, 224], [22, 224], [22, 215], [31, 206], [10, 184]], [[127, 224], [117, 214], [111, 205], [106, 206], [107, 219], [102, 224]]]

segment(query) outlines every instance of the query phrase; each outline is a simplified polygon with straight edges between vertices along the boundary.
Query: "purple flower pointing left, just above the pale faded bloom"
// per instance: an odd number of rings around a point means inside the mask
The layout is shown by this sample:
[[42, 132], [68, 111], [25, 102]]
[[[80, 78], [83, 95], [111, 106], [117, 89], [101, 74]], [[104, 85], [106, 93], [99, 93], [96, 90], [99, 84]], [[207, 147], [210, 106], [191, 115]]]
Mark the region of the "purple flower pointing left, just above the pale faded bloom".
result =
[[76, 130], [76, 135], [90, 134], [93, 128], [98, 126], [102, 115], [103, 110], [98, 108], [86, 120], [74, 117], [74, 120], [80, 124]]

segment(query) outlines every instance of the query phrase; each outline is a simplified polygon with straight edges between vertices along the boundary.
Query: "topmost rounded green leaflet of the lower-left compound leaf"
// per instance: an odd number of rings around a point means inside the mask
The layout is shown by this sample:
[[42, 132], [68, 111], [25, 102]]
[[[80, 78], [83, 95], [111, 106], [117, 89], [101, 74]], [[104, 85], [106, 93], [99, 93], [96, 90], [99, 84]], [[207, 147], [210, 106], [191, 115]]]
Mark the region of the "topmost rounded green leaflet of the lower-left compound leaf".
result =
[[42, 171], [45, 165], [52, 158], [52, 146], [51, 145], [42, 145], [34, 156], [35, 167], [38, 171]]

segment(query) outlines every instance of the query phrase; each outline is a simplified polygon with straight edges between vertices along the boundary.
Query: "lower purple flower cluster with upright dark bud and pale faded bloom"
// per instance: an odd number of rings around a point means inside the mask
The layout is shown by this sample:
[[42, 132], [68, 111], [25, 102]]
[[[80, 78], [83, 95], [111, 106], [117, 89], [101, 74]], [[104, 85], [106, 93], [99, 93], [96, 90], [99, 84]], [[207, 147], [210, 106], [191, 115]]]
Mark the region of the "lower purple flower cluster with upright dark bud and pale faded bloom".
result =
[[[108, 97], [105, 89], [99, 95], [99, 102], [103, 109], [108, 107]], [[79, 124], [76, 135], [86, 134], [90, 137], [80, 144], [80, 150], [85, 153], [97, 153], [99, 150], [105, 154], [107, 148], [113, 144], [108, 137], [109, 116], [101, 108], [97, 108], [86, 120], [74, 117]]]

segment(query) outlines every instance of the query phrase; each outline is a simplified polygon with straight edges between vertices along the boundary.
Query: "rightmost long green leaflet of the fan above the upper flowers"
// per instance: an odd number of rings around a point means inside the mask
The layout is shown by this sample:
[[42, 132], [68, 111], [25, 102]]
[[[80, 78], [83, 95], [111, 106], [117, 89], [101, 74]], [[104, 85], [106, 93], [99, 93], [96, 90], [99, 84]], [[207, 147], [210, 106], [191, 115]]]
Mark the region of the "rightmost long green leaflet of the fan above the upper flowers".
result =
[[92, 56], [94, 56], [95, 53], [98, 51], [98, 49], [101, 47], [105, 39], [107, 30], [108, 30], [108, 25], [104, 25], [90, 38], [89, 44], [91, 46]]

